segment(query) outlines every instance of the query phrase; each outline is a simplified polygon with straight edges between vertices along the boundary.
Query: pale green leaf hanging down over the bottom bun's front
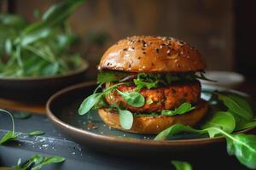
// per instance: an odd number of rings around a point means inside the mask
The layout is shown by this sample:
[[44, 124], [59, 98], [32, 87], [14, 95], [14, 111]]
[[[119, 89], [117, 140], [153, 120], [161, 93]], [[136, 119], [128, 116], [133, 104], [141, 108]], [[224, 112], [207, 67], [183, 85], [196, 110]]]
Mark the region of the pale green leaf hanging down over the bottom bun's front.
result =
[[119, 111], [119, 122], [121, 127], [128, 130], [131, 129], [133, 123], [133, 115], [131, 111], [125, 111], [118, 108]]

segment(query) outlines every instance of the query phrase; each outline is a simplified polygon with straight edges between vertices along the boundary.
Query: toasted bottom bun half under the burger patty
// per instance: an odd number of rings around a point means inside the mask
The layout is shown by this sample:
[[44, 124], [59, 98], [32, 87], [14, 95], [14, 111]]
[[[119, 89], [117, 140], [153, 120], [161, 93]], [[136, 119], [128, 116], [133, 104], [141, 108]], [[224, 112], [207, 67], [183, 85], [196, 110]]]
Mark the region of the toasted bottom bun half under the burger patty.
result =
[[123, 129], [119, 124], [119, 114], [108, 109], [99, 109], [98, 113], [109, 127], [117, 128], [130, 133], [157, 134], [171, 127], [173, 124], [182, 123], [194, 126], [207, 113], [207, 101], [201, 99], [196, 109], [177, 116], [138, 116], [134, 117], [130, 130]]

